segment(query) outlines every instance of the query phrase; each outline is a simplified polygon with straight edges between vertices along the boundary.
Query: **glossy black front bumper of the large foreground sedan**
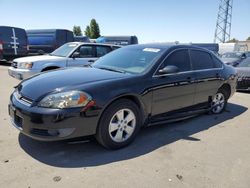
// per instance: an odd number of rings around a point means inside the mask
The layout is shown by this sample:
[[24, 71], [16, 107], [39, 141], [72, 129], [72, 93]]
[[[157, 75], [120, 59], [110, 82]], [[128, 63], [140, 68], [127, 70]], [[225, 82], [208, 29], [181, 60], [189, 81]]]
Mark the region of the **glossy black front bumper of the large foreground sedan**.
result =
[[48, 109], [21, 101], [12, 95], [9, 104], [11, 123], [23, 134], [42, 141], [65, 140], [94, 135], [98, 113], [81, 109]]

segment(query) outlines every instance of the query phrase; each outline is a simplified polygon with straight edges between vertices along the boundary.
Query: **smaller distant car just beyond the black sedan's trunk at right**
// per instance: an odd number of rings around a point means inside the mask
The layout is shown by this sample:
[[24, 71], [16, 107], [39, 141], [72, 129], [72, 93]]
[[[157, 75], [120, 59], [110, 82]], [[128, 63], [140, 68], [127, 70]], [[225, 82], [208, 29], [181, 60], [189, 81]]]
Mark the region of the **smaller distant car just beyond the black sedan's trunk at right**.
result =
[[228, 65], [236, 67], [246, 57], [244, 52], [227, 52], [221, 55], [221, 60]]

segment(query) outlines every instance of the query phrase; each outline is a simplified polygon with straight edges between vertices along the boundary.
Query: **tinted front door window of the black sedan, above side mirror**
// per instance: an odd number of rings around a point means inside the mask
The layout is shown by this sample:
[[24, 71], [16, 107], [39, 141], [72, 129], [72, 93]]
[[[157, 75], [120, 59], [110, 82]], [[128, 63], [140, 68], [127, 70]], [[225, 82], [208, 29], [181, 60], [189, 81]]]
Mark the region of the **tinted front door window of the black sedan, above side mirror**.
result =
[[180, 72], [190, 71], [191, 65], [188, 50], [178, 50], [173, 52], [171, 55], [168, 56], [168, 58], [163, 62], [163, 64], [164, 67], [168, 65], [174, 65], [179, 68]]

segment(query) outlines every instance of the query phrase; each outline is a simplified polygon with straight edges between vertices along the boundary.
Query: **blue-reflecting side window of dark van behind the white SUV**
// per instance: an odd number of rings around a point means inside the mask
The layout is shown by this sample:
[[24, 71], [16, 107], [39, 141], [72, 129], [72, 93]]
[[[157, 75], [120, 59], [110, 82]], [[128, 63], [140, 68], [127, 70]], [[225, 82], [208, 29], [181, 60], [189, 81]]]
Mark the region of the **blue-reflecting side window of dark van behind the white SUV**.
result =
[[55, 41], [54, 35], [32, 35], [28, 36], [30, 45], [52, 45]]

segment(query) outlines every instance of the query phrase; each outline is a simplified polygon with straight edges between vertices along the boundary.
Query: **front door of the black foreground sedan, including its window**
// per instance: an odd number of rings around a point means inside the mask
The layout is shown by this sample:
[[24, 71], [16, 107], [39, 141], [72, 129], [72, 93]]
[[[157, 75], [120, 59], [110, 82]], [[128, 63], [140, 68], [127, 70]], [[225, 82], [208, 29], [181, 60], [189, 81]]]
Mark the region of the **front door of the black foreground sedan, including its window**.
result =
[[[178, 73], [160, 75], [159, 70], [168, 65], [179, 68]], [[164, 60], [153, 77], [152, 115], [192, 106], [194, 103], [194, 73], [191, 71], [187, 49], [173, 51]]]

